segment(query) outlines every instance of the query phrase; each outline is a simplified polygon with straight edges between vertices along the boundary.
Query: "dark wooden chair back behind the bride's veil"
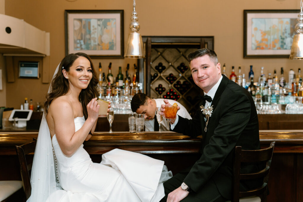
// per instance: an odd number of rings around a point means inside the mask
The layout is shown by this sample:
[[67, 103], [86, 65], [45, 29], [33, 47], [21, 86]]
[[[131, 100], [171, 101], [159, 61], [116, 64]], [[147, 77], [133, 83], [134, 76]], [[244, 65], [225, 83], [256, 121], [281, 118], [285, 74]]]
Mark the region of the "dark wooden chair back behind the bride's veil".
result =
[[23, 182], [23, 189], [25, 193], [26, 200], [31, 196], [32, 186], [30, 180], [30, 172], [32, 170], [32, 158], [26, 159], [25, 155], [34, 153], [36, 148], [37, 140], [33, 138], [30, 143], [22, 144], [16, 146], [17, 155], [19, 158], [20, 172]]

